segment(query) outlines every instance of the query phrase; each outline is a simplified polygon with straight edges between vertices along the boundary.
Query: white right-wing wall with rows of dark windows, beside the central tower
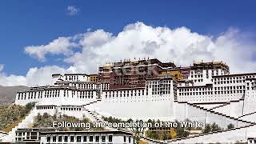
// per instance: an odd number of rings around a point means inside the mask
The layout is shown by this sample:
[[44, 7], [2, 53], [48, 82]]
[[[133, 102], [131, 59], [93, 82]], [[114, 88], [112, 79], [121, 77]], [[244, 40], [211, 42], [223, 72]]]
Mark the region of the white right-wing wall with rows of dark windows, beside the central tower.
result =
[[[190, 103], [230, 102], [239, 100], [246, 93], [246, 78], [255, 78], [255, 74], [225, 75], [213, 77], [212, 86], [206, 83], [195, 86], [178, 87], [178, 101]], [[208, 78], [206, 78], [208, 79]], [[251, 95], [251, 94], [250, 94]]]

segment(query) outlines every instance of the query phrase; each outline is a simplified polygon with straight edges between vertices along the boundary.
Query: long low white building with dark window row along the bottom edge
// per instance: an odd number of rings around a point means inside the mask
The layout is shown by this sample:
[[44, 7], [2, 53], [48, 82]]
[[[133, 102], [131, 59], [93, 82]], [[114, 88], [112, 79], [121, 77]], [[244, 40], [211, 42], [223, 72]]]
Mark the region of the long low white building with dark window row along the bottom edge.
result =
[[133, 134], [125, 131], [58, 131], [42, 132], [41, 144], [133, 144]]

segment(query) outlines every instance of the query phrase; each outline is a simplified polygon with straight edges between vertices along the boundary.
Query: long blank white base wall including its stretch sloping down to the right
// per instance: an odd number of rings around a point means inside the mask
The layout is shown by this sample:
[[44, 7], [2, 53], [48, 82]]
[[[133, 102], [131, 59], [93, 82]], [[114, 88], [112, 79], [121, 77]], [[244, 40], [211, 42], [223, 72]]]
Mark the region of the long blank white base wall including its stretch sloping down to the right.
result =
[[234, 126], [245, 126], [243, 122], [237, 122], [233, 119], [218, 114], [212, 114], [209, 111], [199, 109], [186, 103], [173, 102], [171, 100], [148, 101], [128, 101], [128, 102], [96, 102], [86, 109], [96, 111], [105, 117], [115, 117], [122, 119], [160, 119], [162, 121], [197, 121], [203, 123], [216, 122], [223, 129], [227, 128], [230, 123]]

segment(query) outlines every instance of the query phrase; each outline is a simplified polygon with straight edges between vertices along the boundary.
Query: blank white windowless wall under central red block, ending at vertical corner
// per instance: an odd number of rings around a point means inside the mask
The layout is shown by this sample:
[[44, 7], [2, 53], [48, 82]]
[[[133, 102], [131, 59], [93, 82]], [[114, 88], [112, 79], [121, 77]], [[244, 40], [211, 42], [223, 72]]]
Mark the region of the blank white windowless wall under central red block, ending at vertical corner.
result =
[[86, 109], [104, 116], [122, 119], [161, 119], [174, 120], [174, 102], [170, 98], [120, 98], [118, 100], [96, 102]]

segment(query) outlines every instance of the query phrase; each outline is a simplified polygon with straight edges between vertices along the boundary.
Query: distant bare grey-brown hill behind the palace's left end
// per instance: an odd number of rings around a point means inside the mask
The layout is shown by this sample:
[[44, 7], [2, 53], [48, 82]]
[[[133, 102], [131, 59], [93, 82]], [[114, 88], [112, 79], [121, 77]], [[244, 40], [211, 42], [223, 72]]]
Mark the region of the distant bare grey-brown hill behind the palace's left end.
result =
[[18, 90], [28, 90], [27, 86], [0, 86], [0, 104], [14, 102]]

